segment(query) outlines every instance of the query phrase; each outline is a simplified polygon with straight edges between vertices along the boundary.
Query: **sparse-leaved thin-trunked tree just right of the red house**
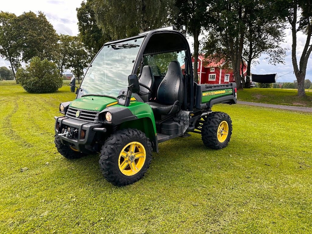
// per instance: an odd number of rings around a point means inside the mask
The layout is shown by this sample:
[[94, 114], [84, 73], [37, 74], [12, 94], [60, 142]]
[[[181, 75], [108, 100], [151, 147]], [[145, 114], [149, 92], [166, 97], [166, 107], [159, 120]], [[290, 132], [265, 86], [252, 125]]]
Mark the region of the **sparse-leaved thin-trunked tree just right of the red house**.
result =
[[250, 88], [251, 64], [259, 63], [256, 59], [263, 53], [267, 54], [266, 59], [269, 63], [284, 64], [286, 49], [280, 46], [280, 42], [285, 37], [285, 25], [280, 19], [272, 20], [270, 14], [264, 12], [266, 10], [267, 8], [260, 7], [260, 10], [253, 12], [248, 21], [242, 54], [247, 62], [245, 88]]

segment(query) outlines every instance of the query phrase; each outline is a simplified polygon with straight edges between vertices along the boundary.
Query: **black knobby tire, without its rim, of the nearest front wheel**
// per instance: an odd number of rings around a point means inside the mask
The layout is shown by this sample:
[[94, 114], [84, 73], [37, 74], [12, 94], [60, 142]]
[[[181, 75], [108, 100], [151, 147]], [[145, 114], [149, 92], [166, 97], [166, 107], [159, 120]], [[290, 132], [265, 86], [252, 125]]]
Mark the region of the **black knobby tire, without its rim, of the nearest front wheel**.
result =
[[[143, 167], [134, 175], [124, 175], [119, 169], [119, 154], [131, 142], [141, 143], [146, 152]], [[100, 153], [100, 169], [105, 179], [117, 186], [132, 184], [141, 179], [146, 173], [152, 160], [152, 144], [146, 135], [137, 129], [123, 129], [106, 139]]]

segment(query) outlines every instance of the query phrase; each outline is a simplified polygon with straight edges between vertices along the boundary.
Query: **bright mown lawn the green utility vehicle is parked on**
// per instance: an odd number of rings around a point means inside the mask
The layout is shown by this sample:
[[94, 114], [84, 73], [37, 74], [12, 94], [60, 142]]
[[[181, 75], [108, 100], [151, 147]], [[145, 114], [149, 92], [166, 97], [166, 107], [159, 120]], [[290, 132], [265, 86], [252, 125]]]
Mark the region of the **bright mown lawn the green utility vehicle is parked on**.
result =
[[58, 154], [53, 116], [74, 98], [0, 85], [0, 233], [312, 233], [311, 114], [217, 105], [233, 121], [227, 148], [197, 134], [161, 143], [119, 188], [98, 155]]

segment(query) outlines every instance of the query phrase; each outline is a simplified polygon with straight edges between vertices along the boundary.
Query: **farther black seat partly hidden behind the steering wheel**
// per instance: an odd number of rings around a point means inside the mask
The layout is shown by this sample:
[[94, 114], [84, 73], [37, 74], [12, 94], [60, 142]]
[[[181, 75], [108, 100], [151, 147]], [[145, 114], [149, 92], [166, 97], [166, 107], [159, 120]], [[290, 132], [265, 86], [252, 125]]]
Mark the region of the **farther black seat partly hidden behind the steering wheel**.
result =
[[[139, 82], [148, 86], [152, 90], [155, 89], [155, 87], [154, 87], [155, 86], [155, 78], [154, 78], [154, 75], [153, 75], [153, 72], [152, 72], [152, 69], [150, 66], [144, 66], [143, 67]], [[144, 102], [148, 102], [152, 98], [153, 93], [150, 93], [150, 94], [145, 94], [145, 93], [149, 93], [149, 90], [144, 88], [143, 86], [140, 86], [139, 95], [141, 96], [141, 98], [143, 99]]]

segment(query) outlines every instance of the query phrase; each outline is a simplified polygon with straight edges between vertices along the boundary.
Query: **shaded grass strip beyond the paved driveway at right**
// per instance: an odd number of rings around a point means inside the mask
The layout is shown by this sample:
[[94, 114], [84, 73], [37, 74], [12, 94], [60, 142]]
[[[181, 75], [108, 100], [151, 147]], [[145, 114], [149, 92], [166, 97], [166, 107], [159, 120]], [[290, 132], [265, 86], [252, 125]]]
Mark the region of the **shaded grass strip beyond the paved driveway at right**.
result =
[[305, 93], [306, 97], [298, 97], [297, 90], [251, 88], [238, 90], [237, 97], [240, 101], [312, 107], [312, 92]]

